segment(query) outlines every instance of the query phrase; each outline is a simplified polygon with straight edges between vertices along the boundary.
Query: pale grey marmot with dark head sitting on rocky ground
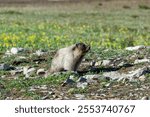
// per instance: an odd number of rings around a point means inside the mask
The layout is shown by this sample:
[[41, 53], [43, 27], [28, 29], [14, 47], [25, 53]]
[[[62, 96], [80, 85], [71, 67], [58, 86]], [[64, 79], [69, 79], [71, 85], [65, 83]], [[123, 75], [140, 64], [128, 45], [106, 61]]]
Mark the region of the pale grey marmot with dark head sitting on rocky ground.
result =
[[76, 71], [84, 55], [90, 50], [90, 46], [77, 43], [66, 48], [59, 49], [52, 59], [48, 74], [60, 71]]

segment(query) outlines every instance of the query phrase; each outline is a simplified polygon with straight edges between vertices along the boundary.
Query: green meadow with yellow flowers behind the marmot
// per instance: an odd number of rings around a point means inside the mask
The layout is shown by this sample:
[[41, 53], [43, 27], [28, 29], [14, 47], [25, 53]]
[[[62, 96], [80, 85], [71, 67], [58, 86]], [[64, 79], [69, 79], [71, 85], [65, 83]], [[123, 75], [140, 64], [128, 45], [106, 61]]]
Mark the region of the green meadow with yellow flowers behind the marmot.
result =
[[29, 7], [0, 8], [0, 14], [1, 51], [13, 46], [57, 49], [76, 42], [117, 49], [150, 45], [149, 10]]

